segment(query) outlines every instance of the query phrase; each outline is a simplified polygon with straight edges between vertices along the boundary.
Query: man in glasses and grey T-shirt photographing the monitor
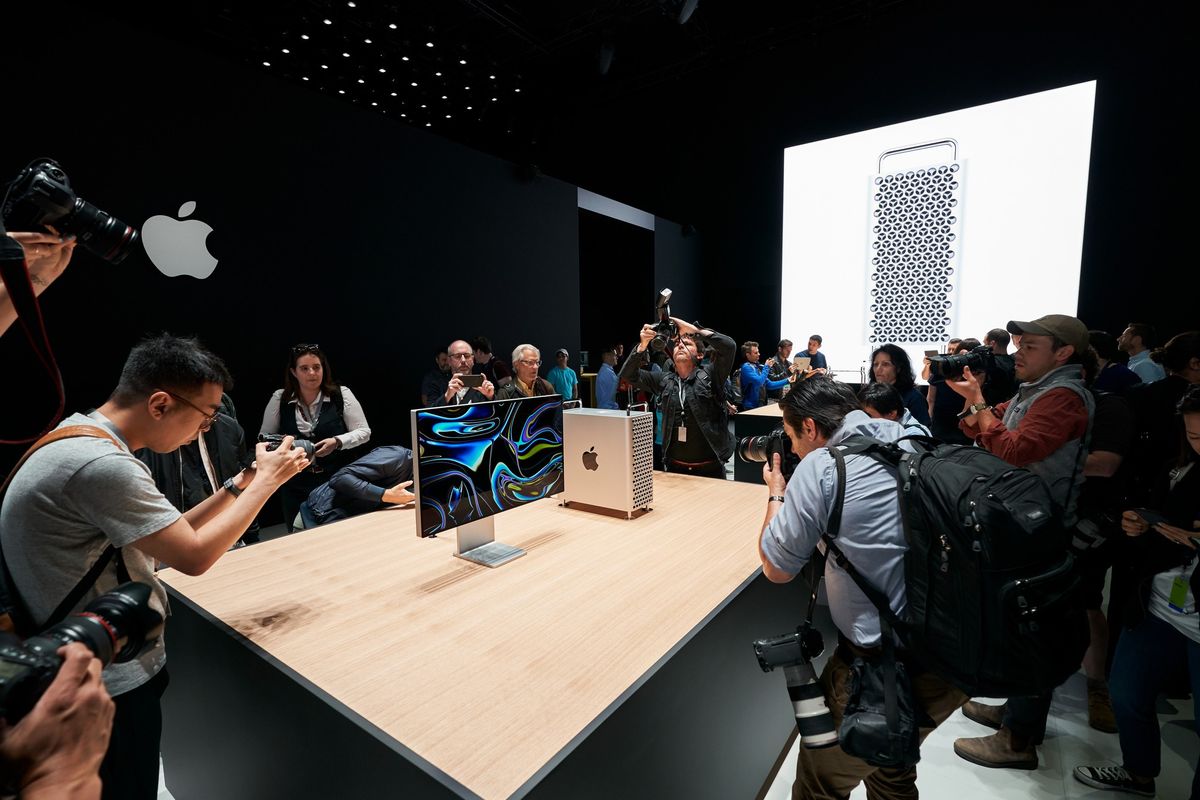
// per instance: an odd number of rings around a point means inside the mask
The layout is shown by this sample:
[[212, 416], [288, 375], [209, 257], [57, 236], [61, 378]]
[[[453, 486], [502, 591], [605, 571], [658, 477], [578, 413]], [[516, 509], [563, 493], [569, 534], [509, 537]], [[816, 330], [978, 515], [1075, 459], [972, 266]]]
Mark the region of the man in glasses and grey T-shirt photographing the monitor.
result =
[[[47, 444], [24, 462], [0, 506], [0, 543], [12, 600], [24, 603], [38, 627], [58, 621], [48, 618], [74, 588], [85, 589], [72, 609], [78, 610], [131, 579], [151, 587], [151, 606], [166, 616], [155, 563], [187, 575], [205, 572], [268, 498], [307, 465], [290, 439], [274, 452], [260, 444], [254, 465], [196, 507], [181, 513], [162, 495], [133, 451], [164, 453], [194, 440], [212, 426], [230, 384], [221, 360], [196, 339], [146, 339], [130, 353], [103, 405], [59, 426], [86, 426], [90, 433]], [[89, 579], [109, 547], [116, 548], [115, 558]], [[156, 798], [158, 702], [167, 687], [162, 639], [140, 658], [107, 667], [103, 679], [116, 703], [100, 771], [104, 796]]]

